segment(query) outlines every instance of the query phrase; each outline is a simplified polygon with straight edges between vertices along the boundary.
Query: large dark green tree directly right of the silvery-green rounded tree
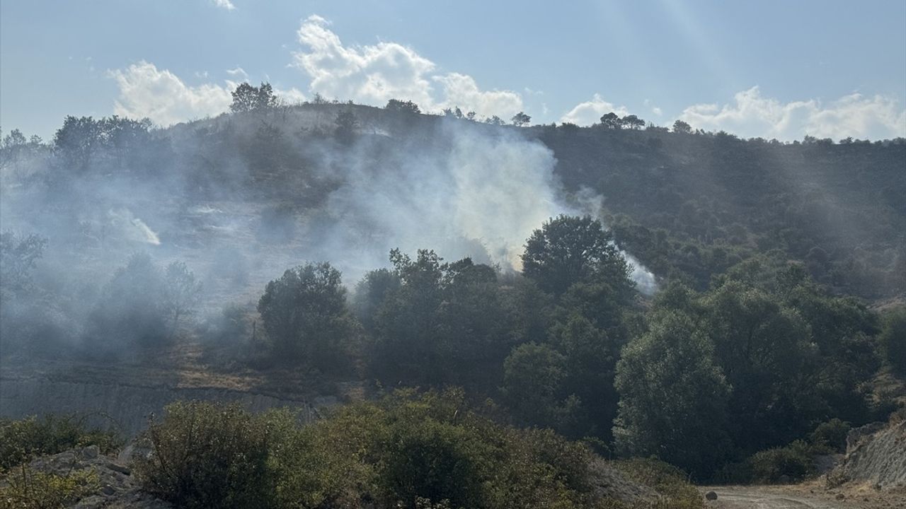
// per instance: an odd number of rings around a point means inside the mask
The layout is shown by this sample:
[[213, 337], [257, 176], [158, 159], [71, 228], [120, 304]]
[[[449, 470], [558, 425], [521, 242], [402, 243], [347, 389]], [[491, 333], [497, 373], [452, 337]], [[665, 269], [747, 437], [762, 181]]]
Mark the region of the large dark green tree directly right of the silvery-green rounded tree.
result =
[[734, 444], [755, 452], [805, 434], [826, 408], [817, 392], [818, 351], [802, 315], [737, 281], [712, 290], [702, 305], [701, 331], [733, 387]]

